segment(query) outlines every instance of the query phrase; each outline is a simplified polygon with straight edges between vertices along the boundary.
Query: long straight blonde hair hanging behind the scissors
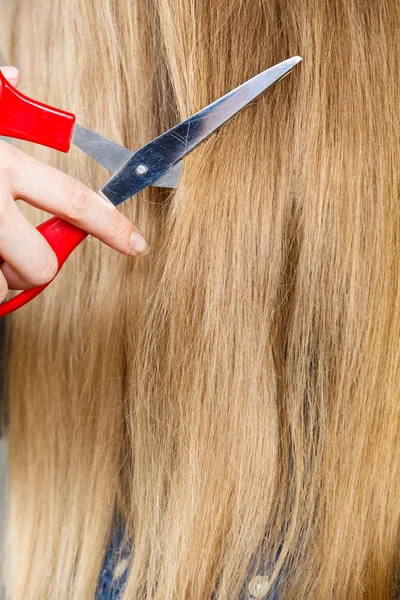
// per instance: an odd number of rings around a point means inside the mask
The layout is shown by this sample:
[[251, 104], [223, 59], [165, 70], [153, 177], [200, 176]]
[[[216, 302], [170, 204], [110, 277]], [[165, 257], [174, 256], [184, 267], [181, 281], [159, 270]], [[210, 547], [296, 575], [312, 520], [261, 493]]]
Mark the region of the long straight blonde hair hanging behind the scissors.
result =
[[[14, 0], [22, 91], [135, 149], [302, 64], [121, 210], [7, 320], [12, 600], [386, 600], [400, 512], [400, 9], [365, 0]], [[29, 151], [97, 189], [72, 150]], [[27, 211], [29, 212], [29, 211]], [[46, 215], [35, 211], [35, 223]]]

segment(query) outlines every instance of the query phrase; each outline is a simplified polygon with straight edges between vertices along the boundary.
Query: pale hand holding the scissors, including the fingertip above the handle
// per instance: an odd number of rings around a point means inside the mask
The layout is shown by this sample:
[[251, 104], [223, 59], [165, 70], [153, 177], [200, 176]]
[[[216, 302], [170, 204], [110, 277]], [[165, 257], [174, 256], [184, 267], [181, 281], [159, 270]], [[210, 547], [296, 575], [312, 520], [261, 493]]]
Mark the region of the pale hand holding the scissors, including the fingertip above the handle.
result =
[[[19, 72], [0, 67], [14, 86]], [[81, 182], [0, 140], [0, 302], [9, 289], [23, 290], [51, 281], [57, 257], [15, 200], [76, 225], [122, 254], [146, 254], [148, 244], [136, 225]]]

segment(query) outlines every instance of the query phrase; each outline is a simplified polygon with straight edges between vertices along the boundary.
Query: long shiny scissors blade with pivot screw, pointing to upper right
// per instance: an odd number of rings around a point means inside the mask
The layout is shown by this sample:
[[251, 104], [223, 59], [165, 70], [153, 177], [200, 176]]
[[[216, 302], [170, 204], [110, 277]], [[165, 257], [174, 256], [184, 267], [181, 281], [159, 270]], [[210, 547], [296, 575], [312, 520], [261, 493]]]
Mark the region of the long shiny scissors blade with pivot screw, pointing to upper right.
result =
[[270, 85], [301, 61], [294, 56], [249, 79], [232, 92], [149, 142], [100, 189], [115, 206], [164, 178], [184, 156], [227, 123]]

